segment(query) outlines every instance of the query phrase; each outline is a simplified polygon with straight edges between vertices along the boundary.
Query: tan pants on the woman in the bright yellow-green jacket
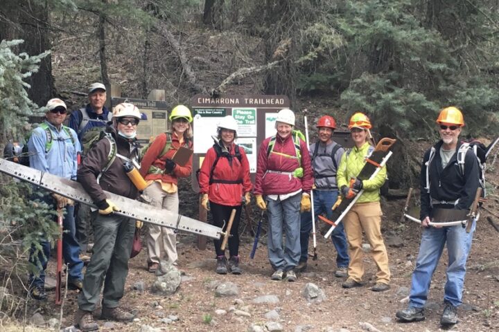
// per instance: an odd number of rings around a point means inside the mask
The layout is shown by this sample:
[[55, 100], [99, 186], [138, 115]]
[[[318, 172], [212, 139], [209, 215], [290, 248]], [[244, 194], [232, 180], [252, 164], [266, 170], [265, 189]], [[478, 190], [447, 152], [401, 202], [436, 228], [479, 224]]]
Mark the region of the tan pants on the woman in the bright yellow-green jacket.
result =
[[357, 203], [353, 205], [344, 219], [344, 230], [349, 243], [349, 277], [356, 282], [362, 281], [364, 263], [362, 252], [362, 230], [371, 245], [373, 259], [378, 266], [376, 282], [389, 284], [388, 255], [381, 236], [381, 207], [379, 202]]

